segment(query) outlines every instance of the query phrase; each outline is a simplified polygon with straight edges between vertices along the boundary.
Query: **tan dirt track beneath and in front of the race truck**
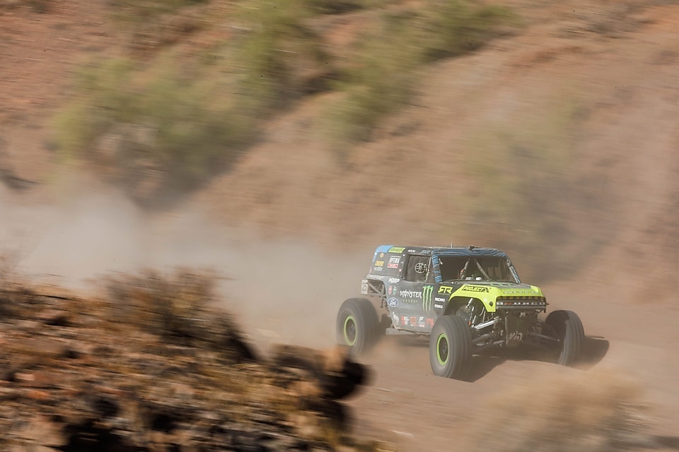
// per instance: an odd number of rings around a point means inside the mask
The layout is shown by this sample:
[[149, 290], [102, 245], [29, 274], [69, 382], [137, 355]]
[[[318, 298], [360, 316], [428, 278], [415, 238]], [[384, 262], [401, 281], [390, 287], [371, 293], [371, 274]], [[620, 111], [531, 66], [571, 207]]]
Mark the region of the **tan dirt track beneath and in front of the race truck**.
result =
[[[666, 315], [655, 316], [654, 306], [630, 303], [629, 300], [606, 299], [607, 287], [600, 283], [573, 298], [569, 286], [582, 282], [548, 285], [544, 290], [550, 299], [550, 309], [571, 309], [579, 313], [588, 336], [586, 362], [576, 369], [559, 367], [548, 362], [475, 357], [475, 371], [470, 381], [441, 379], [431, 374], [428, 343], [425, 338], [386, 337], [375, 350], [363, 358], [373, 371], [373, 384], [354, 397], [349, 404], [354, 409], [356, 433], [393, 441], [399, 450], [444, 451], [460, 450], [475, 444], [483, 434], [487, 418], [498, 419], [491, 405], [513, 391], [524, 391], [541, 398], [555, 391], [555, 382], [564, 378], [584, 384], [594, 391], [605, 388], [618, 379], [635, 388], [630, 393], [635, 403], [647, 405], [644, 430], [649, 441], [662, 437], [676, 450], [675, 421], [679, 419], [679, 394], [675, 391], [675, 376], [679, 371], [679, 332], [674, 315], [677, 307], [665, 307]], [[274, 341], [291, 340], [294, 331], [316, 328], [314, 320], [303, 312], [294, 316], [294, 328], [278, 328]], [[265, 324], [249, 319], [252, 324]], [[269, 325], [276, 324], [275, 321]], [[280, 325], [280, 323], [279, 323]], [[272, 331], [262, 328], [252, 336], [260, 347], [272, 338]], [[264, 333], [262, 335], [262, 333]], [[324, 336], [325, 337], [325, 336]], [[328, 339], [330, 340], [330, 339]], [[320, 341], [316, 342], [321, 345]], [[634, 391], [632, 391], [634, 392]], [[591, 403], [588, 394], [574, 393], [579, 403]], [[514, 403], [520, 403], [516, 399]], [[562, 410], [554, 406], [551, 410]], [[519, 409], [520, 411], [520, 409]], [[511, 408], [506, 413], [511, 417]], [[572, 413], [564, 413], [568, 417]], [[492, 427], [487, 427], [492, 428]], [[579, 432], [572, 432], [577, 435]], [[651, 447], [649, 446], [649, 450]], [[501, 450], [501, 449], [499, 449]]]

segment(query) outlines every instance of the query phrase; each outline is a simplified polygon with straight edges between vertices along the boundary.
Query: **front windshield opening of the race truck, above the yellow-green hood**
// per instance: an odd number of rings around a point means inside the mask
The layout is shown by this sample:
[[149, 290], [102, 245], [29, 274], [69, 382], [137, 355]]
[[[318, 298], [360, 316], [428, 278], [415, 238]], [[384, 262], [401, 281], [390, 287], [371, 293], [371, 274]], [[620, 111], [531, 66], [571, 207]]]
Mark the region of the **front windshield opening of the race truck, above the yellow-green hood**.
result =
[[441, 280], [485, 280], [518, 283], [506, 257], [439, 256]]

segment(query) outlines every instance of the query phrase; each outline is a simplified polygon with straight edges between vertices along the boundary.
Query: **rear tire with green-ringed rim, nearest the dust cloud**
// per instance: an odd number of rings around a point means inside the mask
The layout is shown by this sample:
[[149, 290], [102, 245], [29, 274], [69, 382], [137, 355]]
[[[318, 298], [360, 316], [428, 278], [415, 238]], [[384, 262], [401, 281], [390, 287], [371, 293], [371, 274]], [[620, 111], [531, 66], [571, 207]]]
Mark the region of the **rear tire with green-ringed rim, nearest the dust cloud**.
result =
[[337, 343], [349, 345], [352, 355], [361, 355], [377, 342], [378, 325], [371, 302], [365, 298], [347, 299], [337, 314]]

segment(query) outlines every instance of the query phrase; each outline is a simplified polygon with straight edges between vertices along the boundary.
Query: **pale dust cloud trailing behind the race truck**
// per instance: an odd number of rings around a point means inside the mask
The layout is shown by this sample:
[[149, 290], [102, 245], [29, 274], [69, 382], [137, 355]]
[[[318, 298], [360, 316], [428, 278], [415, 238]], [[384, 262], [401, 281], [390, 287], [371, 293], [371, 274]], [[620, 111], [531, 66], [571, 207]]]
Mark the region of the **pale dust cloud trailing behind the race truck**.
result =
[[344, 299], [356, 296], [371, 251], [325, 251], [223, 227], [186, 204], [148, 213], [110, 186], [80, 181], [56, 203], [29, 204], [0, 191], [0, 252], [30, 280], [98, 290], [101, 277], [185, 268], [216, 275], [216, 304], [248, 338], [329, 347]]

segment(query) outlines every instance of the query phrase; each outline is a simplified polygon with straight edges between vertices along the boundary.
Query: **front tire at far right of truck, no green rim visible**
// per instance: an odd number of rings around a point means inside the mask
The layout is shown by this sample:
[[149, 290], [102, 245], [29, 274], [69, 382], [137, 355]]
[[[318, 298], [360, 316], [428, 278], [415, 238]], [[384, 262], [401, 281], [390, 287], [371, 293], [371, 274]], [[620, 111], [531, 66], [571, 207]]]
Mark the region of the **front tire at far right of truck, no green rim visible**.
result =
[[572, 366], [580, 359], [585, 343], [585, 330], [578, 314], [573, 311], [554, 311], [545, 319], [549, 335], [559, 340], [557, 363]]

